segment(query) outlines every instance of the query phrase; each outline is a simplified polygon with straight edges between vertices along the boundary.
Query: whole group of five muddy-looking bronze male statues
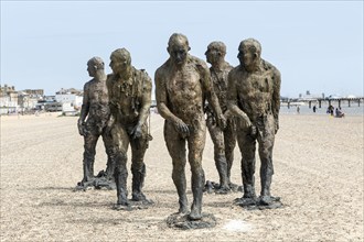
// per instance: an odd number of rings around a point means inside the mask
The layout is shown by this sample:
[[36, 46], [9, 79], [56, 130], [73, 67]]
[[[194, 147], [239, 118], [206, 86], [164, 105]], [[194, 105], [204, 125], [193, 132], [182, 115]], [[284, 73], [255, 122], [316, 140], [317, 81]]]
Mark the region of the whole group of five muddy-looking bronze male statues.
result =
[[[226, 46], [212, 42], [205, 52], [206, 63], [189, 54], [189, 40], [172, 34], [168, 42], [169, 58], [154, 75], [156, 99], [164, 121], [164, 141], [172, 158], [172, 179], [179, 196], [179, 215], [188, 220], [202, 219], [205, 175], [202, 155], [206, 128], [214, 143], [214, 160], [220, 176], [216, 194], [236, 189], [231, 180], [236, 141], [242, 153], [244, 195], [236, 199], [243, 207], [272, 208], [279, 198], [270, 195], [272, 147], [279, 128], [280, 73], [260, 57], [261, 46], [254, 38], [238, 47], [239, 65], [224, 58]], [[131, 201], [151, 205], [142, 193], [146, 177], [144, 154], [151, 136], [148, 116], [152, 82], [144, 70], [131, 65], [130, 53], [118, 48], [110, 55], [113, 74], [105, 75], [104, 62], [94, 57], [87, 63], [93, 79], [85, 84], [84, 102], [78, 120], [85, 139], [84, 178], [78, 187], [87, 188], [98, 179], [115, 183], [117, 207], [130, 207], [127, 190], [127, 151], [131, 147]], [[94, 176], [95, 146], [103, 136], [108, 156], [103, 176]], [[255, 194], [255, 152], [258, 142], [260, 196]], [[188, 152], [185, 146], [188, 145]], [[184, 167], [191, 166], [193, 201], [186, 197]]]

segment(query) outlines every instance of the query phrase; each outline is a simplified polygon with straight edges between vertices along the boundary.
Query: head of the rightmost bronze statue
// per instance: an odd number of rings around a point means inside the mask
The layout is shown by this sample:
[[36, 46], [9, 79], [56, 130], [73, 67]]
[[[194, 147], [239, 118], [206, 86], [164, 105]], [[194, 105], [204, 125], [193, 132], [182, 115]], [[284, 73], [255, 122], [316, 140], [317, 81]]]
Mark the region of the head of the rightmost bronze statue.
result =
[[240, 65], [248, 72], [256, 69], [260, 65], [261, 45], [257, 40], [247, 38], [239, 44], [237, 58]]

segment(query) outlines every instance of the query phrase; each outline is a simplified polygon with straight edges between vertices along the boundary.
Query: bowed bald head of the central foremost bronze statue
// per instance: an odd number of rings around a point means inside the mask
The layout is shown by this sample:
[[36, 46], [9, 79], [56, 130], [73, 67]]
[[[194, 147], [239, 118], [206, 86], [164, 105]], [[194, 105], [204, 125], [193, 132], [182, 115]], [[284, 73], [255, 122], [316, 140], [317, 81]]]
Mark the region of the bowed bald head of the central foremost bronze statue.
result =
[[188, 59], [190, 50], [189, 40], [185, 35], [178, 33], [171, 35], [167, 51], [173, 64], [182, 66]]

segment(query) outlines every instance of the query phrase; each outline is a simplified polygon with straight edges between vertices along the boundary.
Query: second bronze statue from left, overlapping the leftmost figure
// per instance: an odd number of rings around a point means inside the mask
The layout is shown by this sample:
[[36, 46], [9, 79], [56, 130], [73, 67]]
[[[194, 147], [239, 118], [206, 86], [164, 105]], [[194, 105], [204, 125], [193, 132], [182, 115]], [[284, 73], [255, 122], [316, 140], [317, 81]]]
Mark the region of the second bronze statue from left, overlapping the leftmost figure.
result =
[[131, 146], [132, 200], [147, 201], [142, 193], [146, 177], [144, 154], [150, 135], [147, 118], [151, 105], [151, 79], [144, 70], [131, 65], [130, 53], [118, 48], [110, 55], [113, 74], [107, 77], [110, 95], [111, 136], [116, 148], [115, 182], [117, 205], [129, 206], [127, 199], [127, 152]]

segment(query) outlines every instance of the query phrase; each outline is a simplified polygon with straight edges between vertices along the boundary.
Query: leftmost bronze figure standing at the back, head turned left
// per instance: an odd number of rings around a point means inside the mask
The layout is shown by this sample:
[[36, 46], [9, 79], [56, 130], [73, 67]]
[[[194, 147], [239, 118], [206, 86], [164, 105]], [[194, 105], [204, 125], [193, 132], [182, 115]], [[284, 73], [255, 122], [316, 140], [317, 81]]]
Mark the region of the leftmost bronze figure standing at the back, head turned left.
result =
[[[105, 132], [109, 120], [109, 96], [106, 87], [106, 75], [104, 72], [104, 62], [100, 57], [93, 57], [87, 62], [87, 72], [92, 80], [84, 86], [84, 98], [81, 108], [81, 114], [77, 122], [78, 132], [84, 136], [84, 178], [78, 183], [78, 188], [87, 188], [94, 183], [94, 162], [96, 155], [96, 143], [101, 135], [107, 153], [106, 176], [113, 179], [113, 140]], [[87, 118], [87, 119], [86, 119]]]

